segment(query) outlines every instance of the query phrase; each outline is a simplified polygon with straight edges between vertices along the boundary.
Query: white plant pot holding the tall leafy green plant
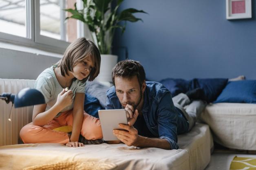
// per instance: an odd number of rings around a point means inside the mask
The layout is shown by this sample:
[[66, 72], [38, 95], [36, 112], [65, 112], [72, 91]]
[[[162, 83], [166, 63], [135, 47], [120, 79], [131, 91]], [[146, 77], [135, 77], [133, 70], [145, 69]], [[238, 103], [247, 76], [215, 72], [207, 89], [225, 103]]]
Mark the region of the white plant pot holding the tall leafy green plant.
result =
[[97, 81], [112, 82], [112, 68], [117, 64], [117, 55], [101, 54], [100, 71]]

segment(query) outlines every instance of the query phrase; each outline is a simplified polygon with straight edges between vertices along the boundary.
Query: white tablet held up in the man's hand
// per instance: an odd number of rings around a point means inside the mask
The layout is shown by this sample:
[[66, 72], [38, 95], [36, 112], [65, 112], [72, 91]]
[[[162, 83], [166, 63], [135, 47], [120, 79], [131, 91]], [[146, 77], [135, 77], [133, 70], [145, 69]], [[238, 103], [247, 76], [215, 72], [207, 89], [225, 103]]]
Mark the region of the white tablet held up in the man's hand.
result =
[[124, 109], [99, 110], [99, 120], [102, 126], [104, 140], [119, 140], [114, 134], [114, 129], [121, 129], [119, 124], [128, 124]]

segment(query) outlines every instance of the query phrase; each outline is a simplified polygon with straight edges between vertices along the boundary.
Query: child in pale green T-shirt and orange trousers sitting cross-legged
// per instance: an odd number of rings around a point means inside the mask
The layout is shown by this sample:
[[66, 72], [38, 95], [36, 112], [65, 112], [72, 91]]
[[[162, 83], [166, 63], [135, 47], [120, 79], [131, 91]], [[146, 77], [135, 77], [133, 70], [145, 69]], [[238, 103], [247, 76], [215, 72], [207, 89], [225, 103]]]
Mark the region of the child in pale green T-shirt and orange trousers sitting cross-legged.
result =
[[[98, 143], [96, 139], [102, 138], [100, 122], [84, 112], [84, 95], [86, 80], [93, 81], [99, 74], [100, 60], [95, 44], [79, 38], [68, 46], [59, 63], [38, 76], [35, 89], [42, 92], [46, 104], [35, 105], [33, 122], [21, 129], [20, 138], [25, 144], [84, 146], [81, 137], [79, 140], [80, 133]], [[67, 125], [73, 127], [72, 134], [53, 130]]]

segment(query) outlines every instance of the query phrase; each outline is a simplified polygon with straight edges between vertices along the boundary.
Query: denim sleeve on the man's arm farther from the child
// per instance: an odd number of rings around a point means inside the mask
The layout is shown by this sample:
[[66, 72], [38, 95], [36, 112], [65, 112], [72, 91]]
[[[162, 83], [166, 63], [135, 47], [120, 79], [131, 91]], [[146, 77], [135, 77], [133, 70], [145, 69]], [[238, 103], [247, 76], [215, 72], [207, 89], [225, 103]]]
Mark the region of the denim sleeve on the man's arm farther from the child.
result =
[[157, 112], [159, 137], [166, 139], [171, 149], [178, 149], [177, 112], [173, 105], [170, 92], [166, 93], [160, 100]]

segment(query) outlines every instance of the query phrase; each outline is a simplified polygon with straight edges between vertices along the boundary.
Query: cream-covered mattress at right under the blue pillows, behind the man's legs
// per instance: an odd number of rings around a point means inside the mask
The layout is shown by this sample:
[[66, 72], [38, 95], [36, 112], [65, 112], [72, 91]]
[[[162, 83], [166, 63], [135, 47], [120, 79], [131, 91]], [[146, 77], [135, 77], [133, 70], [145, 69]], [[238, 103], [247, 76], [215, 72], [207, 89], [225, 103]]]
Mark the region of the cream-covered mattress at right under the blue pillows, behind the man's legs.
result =
[[210, 126], [218, 144], [233, 149], [256, 150], [256, 104], [207, 105], [201, 120]]

